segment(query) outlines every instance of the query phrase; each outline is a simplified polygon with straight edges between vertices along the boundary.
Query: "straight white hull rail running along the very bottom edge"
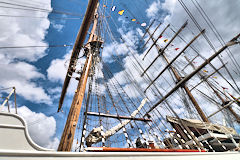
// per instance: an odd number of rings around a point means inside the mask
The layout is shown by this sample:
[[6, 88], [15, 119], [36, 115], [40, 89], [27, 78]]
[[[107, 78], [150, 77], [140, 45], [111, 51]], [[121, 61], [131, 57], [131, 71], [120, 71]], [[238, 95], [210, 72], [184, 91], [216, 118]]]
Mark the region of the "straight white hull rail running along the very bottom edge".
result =
[[1, 160], [240, 160], [239, 152], [146, 153], [146, 152], [49, 152], [1, 151]]

